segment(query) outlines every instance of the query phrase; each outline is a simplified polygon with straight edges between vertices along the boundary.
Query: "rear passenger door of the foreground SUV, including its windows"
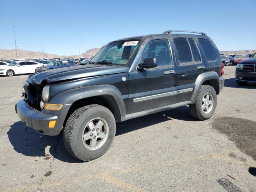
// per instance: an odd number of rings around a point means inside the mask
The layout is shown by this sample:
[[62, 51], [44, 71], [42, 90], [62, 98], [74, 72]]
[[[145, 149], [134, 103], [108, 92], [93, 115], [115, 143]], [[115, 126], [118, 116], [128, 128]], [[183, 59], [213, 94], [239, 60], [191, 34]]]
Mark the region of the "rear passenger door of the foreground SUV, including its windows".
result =
[[197, 40], [193, 36], [173, 38], [176, 54], [176, 80], [178, 95], [175, 103], [189, 101], [198, 75], [206, 71], [204, 62], [198, 50]]

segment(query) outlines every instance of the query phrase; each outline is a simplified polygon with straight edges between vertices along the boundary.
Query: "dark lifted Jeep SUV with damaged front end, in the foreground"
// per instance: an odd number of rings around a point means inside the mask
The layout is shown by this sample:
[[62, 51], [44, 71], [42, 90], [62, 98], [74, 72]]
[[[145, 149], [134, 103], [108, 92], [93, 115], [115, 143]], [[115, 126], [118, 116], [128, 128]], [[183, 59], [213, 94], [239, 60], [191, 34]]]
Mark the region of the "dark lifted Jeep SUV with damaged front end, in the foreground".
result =
[[30, 75], [15, 109], [42, 134], [63, 130], [68, 152], [89, 161], [110, 148], [116, 122], [185, 105], [193, 117], [210, 118], [224, 86], [221, 61], [202, 32], [124, 38], [87, 65]]

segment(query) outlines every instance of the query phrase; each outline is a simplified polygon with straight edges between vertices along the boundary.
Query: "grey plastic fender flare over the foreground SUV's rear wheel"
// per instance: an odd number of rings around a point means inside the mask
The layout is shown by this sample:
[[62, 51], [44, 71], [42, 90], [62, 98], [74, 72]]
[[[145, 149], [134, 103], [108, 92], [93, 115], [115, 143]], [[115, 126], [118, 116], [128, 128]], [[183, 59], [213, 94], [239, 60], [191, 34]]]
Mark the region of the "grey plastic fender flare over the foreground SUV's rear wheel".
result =
[[196, 100], [196, 96], [198, 95], [202, 84], [203, 84], [205, 81], [210, 80], [210, 79], [216, 79], [216, 80], [218, 80], [219, 88], [220, 88], [219, 90], [221, 90], [220, 77], [219, 77], [219, 75], [218, 75], [217, 72], [211, 71], [211, 72], [204, 72], [204, 73], [201, 73], [201, 74], [198, 75], [198, 77], [196, 78], [194, 93], [192, 94], [192, 97], [191, 97], [191, 99], [190, 99], [192, 102], [194, 102], [194, 101]]

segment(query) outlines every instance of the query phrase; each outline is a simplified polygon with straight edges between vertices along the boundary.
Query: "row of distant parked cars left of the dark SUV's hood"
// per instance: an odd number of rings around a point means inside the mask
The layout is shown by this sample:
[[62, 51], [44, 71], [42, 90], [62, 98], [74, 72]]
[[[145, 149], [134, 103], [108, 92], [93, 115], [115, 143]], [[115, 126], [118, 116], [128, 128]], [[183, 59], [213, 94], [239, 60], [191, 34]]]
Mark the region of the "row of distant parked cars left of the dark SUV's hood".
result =
[[89, 61], [90, 59], [88, 58], [79, 58], [77, 61], [75, 61], [74, 58], [64, 58], [62, 60], [60, 58], [2, 60], [0, 61], [0, 75], [14, 76], [15, 74], [29, 74], [44, 70], [88, 64]]

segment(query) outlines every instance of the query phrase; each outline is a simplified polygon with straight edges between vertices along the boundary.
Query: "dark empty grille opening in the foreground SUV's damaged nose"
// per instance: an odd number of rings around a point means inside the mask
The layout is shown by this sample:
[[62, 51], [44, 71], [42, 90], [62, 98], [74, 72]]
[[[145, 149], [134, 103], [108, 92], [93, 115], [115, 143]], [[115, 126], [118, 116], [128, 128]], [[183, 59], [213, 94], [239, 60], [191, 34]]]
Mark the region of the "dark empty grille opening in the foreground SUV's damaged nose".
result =
[[28, 98], [28, 104], [36, 108], [37, 110], [40, 110], [40, 101], [42, 97], [42, 87], [40, 85], [36, 84], [29, 84], [27, 89], [27, 98]]

